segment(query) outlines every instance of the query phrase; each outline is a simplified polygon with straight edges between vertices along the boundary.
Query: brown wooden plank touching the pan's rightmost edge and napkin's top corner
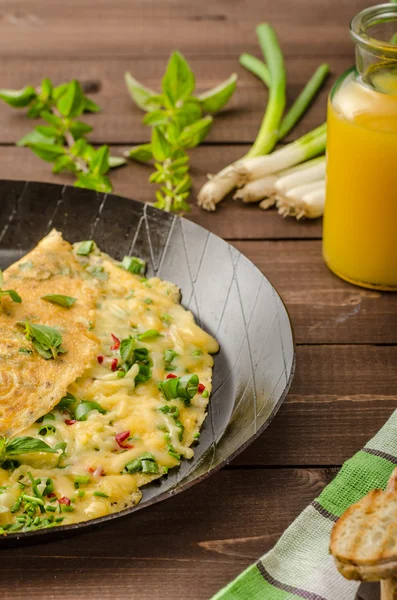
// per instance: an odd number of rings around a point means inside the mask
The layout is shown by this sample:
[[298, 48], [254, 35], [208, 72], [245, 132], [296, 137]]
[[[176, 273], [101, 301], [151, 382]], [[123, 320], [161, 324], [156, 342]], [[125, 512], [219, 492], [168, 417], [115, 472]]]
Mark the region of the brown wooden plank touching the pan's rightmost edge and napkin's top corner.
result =
[[298, 346], [291, 390], [234, 464], [340, 465], [397, 406], [397, 347]]

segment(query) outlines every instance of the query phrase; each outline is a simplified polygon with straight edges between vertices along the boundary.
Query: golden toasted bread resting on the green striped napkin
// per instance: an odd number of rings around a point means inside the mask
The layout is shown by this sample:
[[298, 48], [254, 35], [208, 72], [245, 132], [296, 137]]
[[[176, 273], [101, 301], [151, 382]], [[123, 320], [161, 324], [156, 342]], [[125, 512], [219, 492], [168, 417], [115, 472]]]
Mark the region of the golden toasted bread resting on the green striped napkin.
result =
[[383, 490], [372, 490], [335, 524], [331, 554], [347, 579], [397, 576], [397, 469]]

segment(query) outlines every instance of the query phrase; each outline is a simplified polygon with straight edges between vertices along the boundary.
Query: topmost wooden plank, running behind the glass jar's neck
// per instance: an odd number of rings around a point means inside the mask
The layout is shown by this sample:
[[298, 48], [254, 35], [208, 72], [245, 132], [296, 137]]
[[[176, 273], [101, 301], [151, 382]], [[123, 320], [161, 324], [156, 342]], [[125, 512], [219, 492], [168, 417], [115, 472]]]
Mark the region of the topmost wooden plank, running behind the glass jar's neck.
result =
[[255, 25], [272, 23], [287, 55], [304, 58], [322, 47], [351, 51], [350, 19], [365, 0], [200, 3], [175, 0], [2, 0], [3, 56], [162, 57], [174, 48], [195, 56], [257, 51]]

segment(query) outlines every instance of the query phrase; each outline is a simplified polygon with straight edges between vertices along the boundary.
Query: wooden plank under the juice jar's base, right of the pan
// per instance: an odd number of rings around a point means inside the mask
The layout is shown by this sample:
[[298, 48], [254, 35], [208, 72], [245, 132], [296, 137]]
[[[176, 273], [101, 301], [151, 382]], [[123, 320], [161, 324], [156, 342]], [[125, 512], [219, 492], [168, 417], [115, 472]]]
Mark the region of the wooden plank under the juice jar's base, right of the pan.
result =
[[270, 279], [303, 344], [397, 343], [397, 296], [366, 290], [331, 273], [320, 241], [236, 242]]

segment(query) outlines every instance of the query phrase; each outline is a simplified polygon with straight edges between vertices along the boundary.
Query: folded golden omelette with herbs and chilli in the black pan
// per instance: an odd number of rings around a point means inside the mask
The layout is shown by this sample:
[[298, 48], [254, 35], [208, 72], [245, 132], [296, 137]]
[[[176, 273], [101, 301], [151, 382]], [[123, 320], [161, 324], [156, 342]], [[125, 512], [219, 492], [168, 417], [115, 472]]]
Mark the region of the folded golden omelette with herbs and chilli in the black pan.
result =
[[[47, 248], [51, 240], [59, 252]], [[70, 265], [55, 268], [66, 254]], [[21, 276], [24, 262], [34, 267]], [[194, 456], [216, 340], [181, 306], [174, 284], [147, 279], [139, 258], [117, 262], [90, 240], [71, 252], [54, 232], [10, 267], [5, 280], [3, 289], [16, 290], [22, 302], [3, 297], [0, 318], [7, 317], [10, 336], [30, 345], [31, 353], [18, 356], [15, 367], [26, 373], [26, 383], [18, 383], [26, 393], [23, 405], [9, 397], [0, 413], [0, 534], [86, 521], [133, 506], [142, 486]], [[42, 300], [53, 294], [74, 302]], [[45, 358], [34, 339], [26, 339], [29, 328], [21, 324], [26, 321], [62, 333], [55, 357]], [[7, 410], [17, 427], [7, 424]]]

